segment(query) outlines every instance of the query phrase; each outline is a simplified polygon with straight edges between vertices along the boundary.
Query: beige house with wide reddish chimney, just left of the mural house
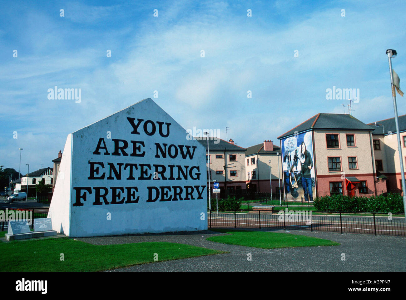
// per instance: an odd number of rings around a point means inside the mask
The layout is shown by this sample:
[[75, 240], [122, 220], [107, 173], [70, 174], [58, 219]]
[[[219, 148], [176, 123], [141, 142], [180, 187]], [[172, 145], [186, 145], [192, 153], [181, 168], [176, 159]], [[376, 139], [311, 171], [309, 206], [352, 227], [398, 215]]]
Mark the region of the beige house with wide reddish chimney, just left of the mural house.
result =
[[[279, 193], [282, 182], [281, 147], [272, 141], [263, 141], [245, 151], [245, 170], [247, 189], [258, 193]], [[270, 180], [272, 178], [272, 180]]]

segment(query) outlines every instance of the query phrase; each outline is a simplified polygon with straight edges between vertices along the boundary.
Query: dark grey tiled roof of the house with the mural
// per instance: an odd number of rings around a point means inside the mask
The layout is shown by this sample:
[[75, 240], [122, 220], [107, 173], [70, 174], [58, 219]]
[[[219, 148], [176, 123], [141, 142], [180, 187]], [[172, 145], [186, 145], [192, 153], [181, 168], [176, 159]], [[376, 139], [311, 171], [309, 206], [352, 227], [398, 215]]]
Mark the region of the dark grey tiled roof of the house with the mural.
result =
[[294, 135], [295, 131], [301, 133], [309, 129], [374, 130], [373, 127], [361, 122], [352, 115], [344, 115], [342, 113], [318, 113], [279, 136], [278, 139]]

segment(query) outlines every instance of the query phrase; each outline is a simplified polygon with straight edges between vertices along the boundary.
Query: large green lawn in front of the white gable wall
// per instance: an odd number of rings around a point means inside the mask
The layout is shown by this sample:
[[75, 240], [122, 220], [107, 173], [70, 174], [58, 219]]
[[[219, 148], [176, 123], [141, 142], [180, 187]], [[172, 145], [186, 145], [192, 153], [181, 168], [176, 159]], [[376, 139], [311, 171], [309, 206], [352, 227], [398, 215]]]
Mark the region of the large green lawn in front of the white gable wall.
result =
[[[4, 233], [3, 233], [4, 235]], [[95, 272], [224, 251], [167, 242], [92, 245], [69, 238], [0, 242], [0, 272]], [[65, 260], [60, 260], [63, 253]]]

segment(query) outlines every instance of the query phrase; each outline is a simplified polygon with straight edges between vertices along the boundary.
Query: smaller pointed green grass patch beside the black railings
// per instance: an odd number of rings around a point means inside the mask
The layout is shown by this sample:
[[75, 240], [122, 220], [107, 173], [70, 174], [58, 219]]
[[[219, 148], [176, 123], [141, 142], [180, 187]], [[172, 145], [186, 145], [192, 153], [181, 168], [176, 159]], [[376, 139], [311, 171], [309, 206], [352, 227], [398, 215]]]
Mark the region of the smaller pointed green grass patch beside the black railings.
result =
[[304, 235], [292, 235], [290, 233], [272, 233], [263, 231], [210, 229], [229, 235], [208, 237], [208, 241], [229, 245], [240, 245], [263, 249], [287, 248], [287, 247], [307, 247], [307, 246], [337, 246], [340, 243], [317, 237]]

